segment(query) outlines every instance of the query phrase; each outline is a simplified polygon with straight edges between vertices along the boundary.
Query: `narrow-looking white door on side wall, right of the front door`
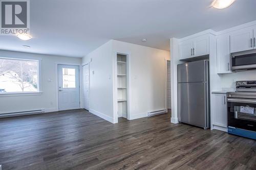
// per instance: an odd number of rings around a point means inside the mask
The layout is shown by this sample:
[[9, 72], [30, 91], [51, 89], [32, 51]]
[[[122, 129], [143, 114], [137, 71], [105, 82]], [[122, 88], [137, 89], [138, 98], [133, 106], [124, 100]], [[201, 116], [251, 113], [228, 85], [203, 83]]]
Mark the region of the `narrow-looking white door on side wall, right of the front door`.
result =
[[90, 69], [89, 64], [82, 66], [83, 72], [83, 108], [89, 110], [89, 100], [90, 100]]

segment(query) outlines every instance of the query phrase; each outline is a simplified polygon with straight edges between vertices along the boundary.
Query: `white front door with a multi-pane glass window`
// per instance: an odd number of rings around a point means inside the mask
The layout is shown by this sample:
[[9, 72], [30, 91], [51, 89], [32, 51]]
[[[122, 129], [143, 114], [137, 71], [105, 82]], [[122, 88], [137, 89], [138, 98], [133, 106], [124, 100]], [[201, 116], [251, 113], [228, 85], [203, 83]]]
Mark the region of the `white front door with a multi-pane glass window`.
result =
[[79, 66], [58, 64], [59, 110], [79, 109]]

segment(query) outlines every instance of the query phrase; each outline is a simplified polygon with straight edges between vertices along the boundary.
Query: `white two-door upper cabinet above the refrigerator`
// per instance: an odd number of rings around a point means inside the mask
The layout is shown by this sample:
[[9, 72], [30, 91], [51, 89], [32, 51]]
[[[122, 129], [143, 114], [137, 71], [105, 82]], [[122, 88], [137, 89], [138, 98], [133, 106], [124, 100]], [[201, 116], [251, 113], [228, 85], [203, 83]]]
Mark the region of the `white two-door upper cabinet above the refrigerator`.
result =
[[202, 35], [196, 38], [181, 41], [179, 44], [180, 60], [204, 56], [209, 54], [209, 36]]

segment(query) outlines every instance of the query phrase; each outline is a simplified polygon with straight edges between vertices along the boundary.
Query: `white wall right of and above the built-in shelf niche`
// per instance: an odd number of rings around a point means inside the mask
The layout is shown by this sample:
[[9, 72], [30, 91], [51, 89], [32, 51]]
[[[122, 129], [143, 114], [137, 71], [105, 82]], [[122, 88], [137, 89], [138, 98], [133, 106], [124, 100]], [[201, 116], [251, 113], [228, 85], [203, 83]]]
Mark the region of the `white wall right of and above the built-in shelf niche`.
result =
[[169, 52], [116, 40], [112, 43], [114, 52], [130, 57], [130, 119], [167, 109], [165, 60], [169, 59]]

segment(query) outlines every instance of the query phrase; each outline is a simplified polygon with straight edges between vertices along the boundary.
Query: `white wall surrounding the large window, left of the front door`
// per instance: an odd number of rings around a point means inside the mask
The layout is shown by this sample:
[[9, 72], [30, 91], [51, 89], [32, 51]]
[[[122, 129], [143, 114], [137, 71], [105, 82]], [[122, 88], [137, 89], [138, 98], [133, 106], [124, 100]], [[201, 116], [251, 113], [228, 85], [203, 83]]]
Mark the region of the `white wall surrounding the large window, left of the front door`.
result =
[[[0, 57], [41, 59], [41, 91], [40, 95], [0, 96], [0, 113], [46, 109], [47, 112], [57, 111], [56, 95], [56, 62], [81, 64], [81, 58], [38, 55], [0, 51]], [[52, 82], [48, 82], [52, 79]]]

